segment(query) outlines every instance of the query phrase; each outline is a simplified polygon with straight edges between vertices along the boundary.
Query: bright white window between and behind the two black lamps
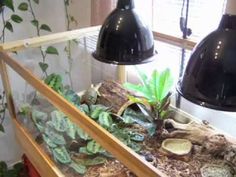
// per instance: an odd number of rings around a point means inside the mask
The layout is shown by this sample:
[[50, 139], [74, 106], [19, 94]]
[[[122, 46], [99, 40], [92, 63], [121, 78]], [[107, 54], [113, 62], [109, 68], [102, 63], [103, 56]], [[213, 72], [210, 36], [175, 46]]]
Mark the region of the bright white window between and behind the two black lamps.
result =
[[[190, 39], [199, 41], [215, 30], [224, 13], [226, 0], [190, 0], [188, 28]], [[184, 7], [183, 7], [184, 4]], [[135, 0], [138, 13], [154, 31], [182, 37], [181, 12], [185, 17], [187, 0]], [[210, 10], [209, 10], [210, 9]]]

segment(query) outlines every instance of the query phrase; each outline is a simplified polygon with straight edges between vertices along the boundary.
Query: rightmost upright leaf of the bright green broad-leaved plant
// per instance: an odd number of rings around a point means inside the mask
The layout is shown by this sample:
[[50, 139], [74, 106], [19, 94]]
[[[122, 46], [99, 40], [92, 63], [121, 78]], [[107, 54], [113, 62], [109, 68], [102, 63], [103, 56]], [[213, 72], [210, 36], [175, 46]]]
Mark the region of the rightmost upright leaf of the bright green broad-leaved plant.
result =
[[170, 92], [173, 86], [173, 83], [174, 79], [171, 76], [171, 72], [169, 69], [166, 69], [163, 72], [161, 72], [159, 78], [159, 84], [156, 89], [157, 92], [156, 95], [158, 96], [157, 99], [159, 101], [162, 101], [167, 96], [167, 94]]

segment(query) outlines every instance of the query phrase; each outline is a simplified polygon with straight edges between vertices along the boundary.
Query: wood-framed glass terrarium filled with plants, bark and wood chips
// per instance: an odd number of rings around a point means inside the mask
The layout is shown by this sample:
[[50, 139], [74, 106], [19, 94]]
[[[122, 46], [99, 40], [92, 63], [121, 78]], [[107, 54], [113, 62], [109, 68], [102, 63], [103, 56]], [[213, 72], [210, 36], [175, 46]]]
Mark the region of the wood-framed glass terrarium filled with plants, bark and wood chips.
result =
[[98, 30], [16, 41], [0, 53], [16, 137], [39, 174], [235, 176], [235, 139], [175, 107], [190, 50], [158, 41], [157, 60], [127, 67], [124, 84], [119, 67], [91, 56]]

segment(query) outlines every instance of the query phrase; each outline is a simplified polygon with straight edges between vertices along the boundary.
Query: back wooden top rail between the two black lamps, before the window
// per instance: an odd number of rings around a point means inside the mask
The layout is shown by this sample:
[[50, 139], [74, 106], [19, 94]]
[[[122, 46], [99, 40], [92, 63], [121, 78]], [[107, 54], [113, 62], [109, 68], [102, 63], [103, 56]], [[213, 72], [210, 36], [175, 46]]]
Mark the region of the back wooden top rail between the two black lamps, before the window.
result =
[[153, 36], [155, 40], [165, 42], [167, 44], [172, 44], [181, 48], [192, 50], [194, 46], [196, 45], [196, 42], [178, 38], [175, 36], [159, 33], [159, 32], [153, 32]]

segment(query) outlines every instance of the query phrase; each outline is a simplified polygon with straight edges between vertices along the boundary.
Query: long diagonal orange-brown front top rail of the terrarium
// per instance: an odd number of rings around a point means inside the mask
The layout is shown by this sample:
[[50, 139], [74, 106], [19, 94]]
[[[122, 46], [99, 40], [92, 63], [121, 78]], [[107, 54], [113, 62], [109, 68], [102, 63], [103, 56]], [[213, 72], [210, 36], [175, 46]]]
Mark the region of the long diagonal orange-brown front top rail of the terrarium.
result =
[[62, 96], [58, 95], [41, 80], [37, 79], [17, 61], [3, 52], [0, 52], [0, 58], [2, 58], [19, 75], [21, 75], [29, 84], [36, 88], [37, 91], [44, 95], [56, 108], [63, 111], [71, 121], [80, 126], [94, 140], [101, 144], [107, 151], [113, 154], [135, 174], [141, 177], [166, 177], [166, 175], [160, 170], [146, 162], [137, 153], [125, 146], [116, 137], [99, 126], [95, 121], [91, 120], [88, 116], [80, 112], [75, 106], [70, 104]]

